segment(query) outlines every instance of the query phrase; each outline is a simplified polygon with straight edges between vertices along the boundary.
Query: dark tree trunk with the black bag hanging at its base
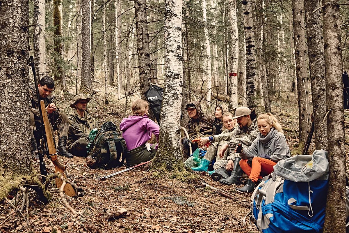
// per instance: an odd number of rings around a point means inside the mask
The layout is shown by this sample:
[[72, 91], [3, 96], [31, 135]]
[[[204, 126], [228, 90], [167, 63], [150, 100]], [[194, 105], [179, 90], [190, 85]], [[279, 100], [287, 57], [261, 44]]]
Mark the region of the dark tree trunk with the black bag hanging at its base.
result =
[[[144, 100], [144, 93], [149, 89], [150, 76], [150, 50], [149, 50], [149, 33], [146, 0], [134, 1], [136, 14], [136, 31], [137, 31], [137, 47], [138, 47], [138, 68], [139, 68], [139, 83], [141, 97]], [[127, 53], [128, 56], [128, 53]]]

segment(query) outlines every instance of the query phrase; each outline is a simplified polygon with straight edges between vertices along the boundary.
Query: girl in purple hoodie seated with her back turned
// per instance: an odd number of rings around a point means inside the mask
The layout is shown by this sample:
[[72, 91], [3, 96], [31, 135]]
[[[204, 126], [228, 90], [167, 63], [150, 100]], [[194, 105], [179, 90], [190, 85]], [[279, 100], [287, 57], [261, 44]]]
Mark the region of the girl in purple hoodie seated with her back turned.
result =
[[127, 146], [126, 163], [134, 166], [151, 160], [157, 151], [157, 144], [148, 141], [154, 134], [159, 140], [159, 126], [148, 118], [149, 105], [147, 101], [136, 100], [132, 103], [132, 116], [122, 119], [120, 130]]

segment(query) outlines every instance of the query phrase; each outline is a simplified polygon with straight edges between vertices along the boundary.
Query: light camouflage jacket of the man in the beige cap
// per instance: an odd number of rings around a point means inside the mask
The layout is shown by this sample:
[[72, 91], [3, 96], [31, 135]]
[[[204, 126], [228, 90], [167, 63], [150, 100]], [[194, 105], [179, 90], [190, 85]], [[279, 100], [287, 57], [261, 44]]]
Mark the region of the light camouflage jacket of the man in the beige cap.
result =
[[[258, 137], [258, 124], [257, 119], [254, 119], [252, 121], [252, 124], [250, 127], [248, 127], [247, 130], [240, 129], [238, 126], [236, 126], [233, 130], [232, 139], [228, 142], [230, 151], [234, 150], [235, 146], [237, 144], [242, 144], [245, 146], [251, 146], [254, 139]], [[239, 157], [239, 154], [236, 154], [234, 152], [230, 152], [227, 159], [234, 159], [235, 157]]]

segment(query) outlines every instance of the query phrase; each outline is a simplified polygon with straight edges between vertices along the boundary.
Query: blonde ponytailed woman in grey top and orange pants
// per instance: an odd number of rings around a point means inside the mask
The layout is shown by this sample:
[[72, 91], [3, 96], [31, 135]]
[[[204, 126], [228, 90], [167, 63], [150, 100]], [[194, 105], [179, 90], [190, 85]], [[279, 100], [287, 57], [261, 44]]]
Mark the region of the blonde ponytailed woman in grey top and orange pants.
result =
[[238, 144], [235, 147], [235, 152], [242, 158], [240, 167], [249, 176], [243, 188], [236, 188], [239, 192], [253, 192], [255, 183], [262, 179], [261, 174], [272, 173], [278, 161], [291, 156], [282, 127], [273, 114], [259, 115], [257, 123], [259, 135], [252, 145], [243, 148]]

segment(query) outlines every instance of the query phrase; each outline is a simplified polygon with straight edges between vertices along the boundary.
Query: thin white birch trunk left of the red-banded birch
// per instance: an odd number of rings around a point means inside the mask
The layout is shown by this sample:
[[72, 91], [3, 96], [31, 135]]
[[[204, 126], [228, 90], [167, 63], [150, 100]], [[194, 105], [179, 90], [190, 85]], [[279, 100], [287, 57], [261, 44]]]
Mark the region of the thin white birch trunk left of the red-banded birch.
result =
[[[204, 59], [203, 59], [203, 72], [204, 80], [206, 80], [206, 100], [211, 101], [211, 49], [210, 40], [208, 38], [208, 24], [207, 24], [207, 14], [206, 14], [206, 0], [202, 0], [202, 23], [205, 25], [204, 29]], [[209, 102], [206, 102], [209, 104]]]

